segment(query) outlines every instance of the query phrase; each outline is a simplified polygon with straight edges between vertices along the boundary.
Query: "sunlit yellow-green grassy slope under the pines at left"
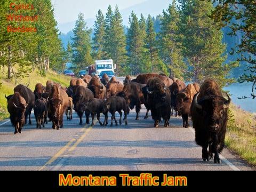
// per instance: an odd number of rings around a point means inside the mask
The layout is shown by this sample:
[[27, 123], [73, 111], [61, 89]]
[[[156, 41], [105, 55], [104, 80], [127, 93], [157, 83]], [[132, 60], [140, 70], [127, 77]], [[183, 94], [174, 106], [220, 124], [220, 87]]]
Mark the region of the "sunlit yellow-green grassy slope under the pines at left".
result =
[[[13, 94], [13, 89], [15, 87], [13, 82], [7, 82], [5, 81], [5, 76], [6, 76], [6, 69], [1, 70], [1, 82], [3, 83], [2, 86], [0, 87], [0, 120], [8, 118], [9, 117], [9, 113], [7, 111], [7, 102], [6, 99], [4, 97], [4, 95], [10, 95]], [[4, 74], [4, 77], [3, 77]], [[57, 73], [54, 73], [53, 71], [49, 71], [46, 74], [46, 77], [42, 77], [41, 75], [37, 74], [37, 71], [33, 71], [32, 73], [30, 73], [30, 84], [29, 84], [29, 88], [34, 91], [35, 89], [35, 85], [37, 83], [42, 83], [43, 85], [46, 84], [47, 80], [52, 80], [54, 82], [58, 82], [63, 86], [68, 86], [69, 85], [69, 81], [70, 81], [70, 77], [64, 76], [64, 75], [59, 75]], [[19, 81], [18, 84], [23, 84], [23, 85], [27, 85], [28, 84], [28, 77], [27, 78], [23, 78]]]

